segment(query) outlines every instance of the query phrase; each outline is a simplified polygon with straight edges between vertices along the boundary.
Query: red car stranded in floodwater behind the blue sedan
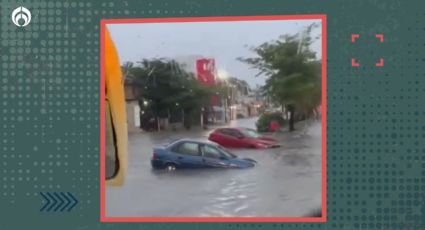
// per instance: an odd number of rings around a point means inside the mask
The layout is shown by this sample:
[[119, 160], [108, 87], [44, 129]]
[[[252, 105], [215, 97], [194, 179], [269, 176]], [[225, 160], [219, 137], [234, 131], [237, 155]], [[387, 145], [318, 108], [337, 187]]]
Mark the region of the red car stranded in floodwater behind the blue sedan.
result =
[[265, 137], [249, 128], [215, 129], [208, 140], [228, 148], [277, 148], [280, 145], [271, 137]]

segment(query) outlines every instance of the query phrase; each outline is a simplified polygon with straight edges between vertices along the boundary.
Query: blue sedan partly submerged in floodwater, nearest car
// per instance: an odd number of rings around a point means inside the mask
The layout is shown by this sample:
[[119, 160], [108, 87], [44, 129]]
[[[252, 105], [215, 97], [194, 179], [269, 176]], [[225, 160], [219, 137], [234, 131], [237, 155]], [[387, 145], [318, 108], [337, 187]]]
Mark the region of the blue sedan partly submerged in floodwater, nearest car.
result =
[[181, 168], [249, 168], [249, 158], [238, 158], [222, 146], [209, 142], [182, 139], [153, 149], [151, 164], [169, 171]]

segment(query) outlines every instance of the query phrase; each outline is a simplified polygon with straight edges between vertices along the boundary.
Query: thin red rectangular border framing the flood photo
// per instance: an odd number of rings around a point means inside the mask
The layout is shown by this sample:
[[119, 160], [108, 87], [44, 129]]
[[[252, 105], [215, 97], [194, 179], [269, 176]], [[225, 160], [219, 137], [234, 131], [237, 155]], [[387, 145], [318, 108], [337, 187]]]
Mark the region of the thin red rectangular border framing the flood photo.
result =
[[[322, 22], [322, 216], [321, 217], [107, 217], [105, 215], [105, 70], [104, 40], [107, 24], [312, 20]], [[100, 221], [101, 222], [326, 222], [326, 15], [220, 16], [182, 18], [123, 18], [100, 21]]]

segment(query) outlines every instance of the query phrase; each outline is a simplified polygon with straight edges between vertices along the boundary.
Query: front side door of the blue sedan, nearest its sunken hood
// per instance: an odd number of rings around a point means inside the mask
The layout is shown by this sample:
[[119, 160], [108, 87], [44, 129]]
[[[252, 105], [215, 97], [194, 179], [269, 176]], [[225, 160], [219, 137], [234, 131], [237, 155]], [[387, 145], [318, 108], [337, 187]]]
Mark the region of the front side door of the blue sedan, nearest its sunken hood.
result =
[[212, 145], [201, 145], [202, 162], [207, 168], [228, 168], [230, 161]]

